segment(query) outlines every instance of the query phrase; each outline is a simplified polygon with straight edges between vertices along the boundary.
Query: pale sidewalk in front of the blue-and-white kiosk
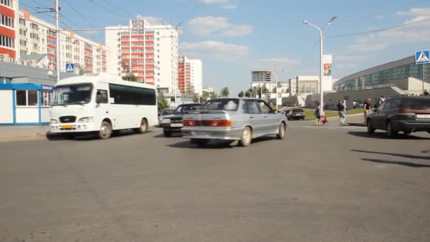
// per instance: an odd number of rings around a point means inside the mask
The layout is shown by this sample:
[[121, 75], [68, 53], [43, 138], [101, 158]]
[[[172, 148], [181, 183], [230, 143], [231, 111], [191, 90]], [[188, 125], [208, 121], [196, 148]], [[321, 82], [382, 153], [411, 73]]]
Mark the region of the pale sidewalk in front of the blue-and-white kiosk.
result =
[[49, 126], [0, 126], [0, 142], [46, 139]]

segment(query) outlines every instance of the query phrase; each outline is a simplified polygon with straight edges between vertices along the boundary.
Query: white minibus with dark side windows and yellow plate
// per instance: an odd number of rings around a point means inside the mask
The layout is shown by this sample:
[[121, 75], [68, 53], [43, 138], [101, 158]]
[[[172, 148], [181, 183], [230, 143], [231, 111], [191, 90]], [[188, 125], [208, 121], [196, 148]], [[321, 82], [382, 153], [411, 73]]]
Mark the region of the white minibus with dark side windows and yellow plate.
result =
[[157, 115], [154, 86], [123, 81], [120, 76], [86, 74], [55, 85], [50, 131], [66, 138], [95, 132], [100, 139], [108, 139], [121, 129], [144, 133], [157, 124]]

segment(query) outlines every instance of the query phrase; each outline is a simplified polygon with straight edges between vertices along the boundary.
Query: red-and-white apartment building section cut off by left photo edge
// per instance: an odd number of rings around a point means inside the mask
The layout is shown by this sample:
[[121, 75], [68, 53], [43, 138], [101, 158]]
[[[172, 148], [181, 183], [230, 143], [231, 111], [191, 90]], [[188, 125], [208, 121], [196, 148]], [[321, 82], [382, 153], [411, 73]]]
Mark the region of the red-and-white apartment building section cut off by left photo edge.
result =
[[16, 39], [18, 1], [0, 0], [0, 61], [14, 62], [17, 57]]

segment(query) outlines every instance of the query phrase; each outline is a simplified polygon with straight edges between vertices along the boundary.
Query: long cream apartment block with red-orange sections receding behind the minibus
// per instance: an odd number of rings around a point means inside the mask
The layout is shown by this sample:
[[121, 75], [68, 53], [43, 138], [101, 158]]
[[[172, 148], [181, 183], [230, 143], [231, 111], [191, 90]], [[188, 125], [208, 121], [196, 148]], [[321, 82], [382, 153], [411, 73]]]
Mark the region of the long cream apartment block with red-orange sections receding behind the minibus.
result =
[[32, 16], [23, 8], [19, 10], [18, 0], [0, 0], [1, 60], [23, 64], [23, 56], [46, 54], [47, 67], [57, 69], [56, 40], [59, 37], [60, 71], [66, 70], [67, 63], [76, 64], [86, 73], [108, 71], [110, 50], [107, 47], [73, 31], [63, 30], [57, 34], [55, 29], [54, 24]]

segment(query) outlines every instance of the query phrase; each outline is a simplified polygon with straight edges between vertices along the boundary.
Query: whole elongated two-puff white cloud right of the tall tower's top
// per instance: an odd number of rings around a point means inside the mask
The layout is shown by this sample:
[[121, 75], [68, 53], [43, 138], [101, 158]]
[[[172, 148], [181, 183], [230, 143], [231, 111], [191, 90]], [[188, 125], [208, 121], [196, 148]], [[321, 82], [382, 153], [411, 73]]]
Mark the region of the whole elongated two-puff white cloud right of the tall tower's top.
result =
[[207, 36], [217, 33], [222, 36], [240, 36], [252, 33], [251, 25], [235, 25], [225, 17], [205, 16], [193, 18], [187, 23], [187, 28], [193, 35]]

